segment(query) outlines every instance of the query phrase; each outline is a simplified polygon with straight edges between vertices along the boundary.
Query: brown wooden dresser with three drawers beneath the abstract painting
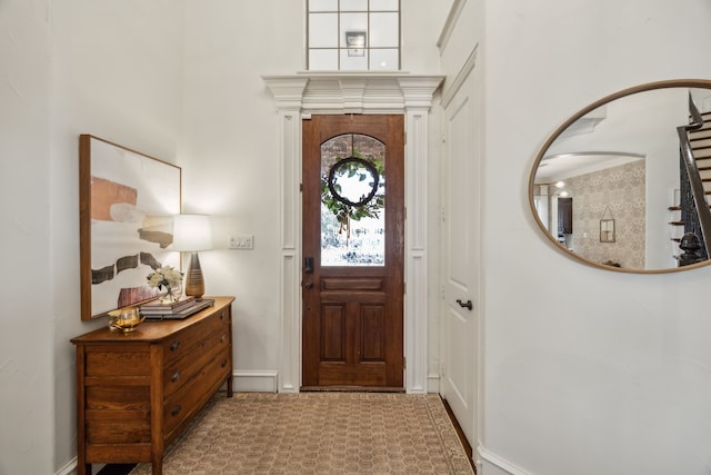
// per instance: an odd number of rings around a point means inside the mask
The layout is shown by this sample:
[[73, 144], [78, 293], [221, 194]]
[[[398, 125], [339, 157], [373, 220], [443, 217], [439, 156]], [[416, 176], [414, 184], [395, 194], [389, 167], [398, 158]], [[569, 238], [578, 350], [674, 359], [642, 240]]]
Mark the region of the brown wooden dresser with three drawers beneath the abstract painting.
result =
[[92, 463], [150, 462], [161, 474], [169, 444], [227, 383], [232, 396], [233, 297], [183, 320], [108, 327], [77, 346], [79, 474]]

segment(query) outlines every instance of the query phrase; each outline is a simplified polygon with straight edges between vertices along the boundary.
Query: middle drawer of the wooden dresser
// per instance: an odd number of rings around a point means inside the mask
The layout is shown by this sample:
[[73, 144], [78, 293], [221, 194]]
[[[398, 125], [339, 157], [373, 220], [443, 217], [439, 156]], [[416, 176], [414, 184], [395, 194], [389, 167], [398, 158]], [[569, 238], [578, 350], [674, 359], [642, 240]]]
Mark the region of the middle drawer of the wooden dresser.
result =
[[163, 370], [163, 397], [170, 397], [188, 384], [216, 355], [221, 354], [230, 345], [230, 328], [223, 325], [202, 340], [190, 352], [173, 360]]

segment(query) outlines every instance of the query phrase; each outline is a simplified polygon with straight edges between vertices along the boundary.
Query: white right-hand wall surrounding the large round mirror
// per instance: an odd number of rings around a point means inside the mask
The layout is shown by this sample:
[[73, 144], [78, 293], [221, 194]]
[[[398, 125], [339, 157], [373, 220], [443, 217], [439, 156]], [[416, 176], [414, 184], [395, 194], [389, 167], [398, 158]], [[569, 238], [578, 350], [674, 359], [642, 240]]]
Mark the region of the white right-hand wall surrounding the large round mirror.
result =
[[710, 20], [705, 0], [485, 3], [480, 443], [522, 472], [709, 473], [711, 269], [580, 265], [541, 236], [527, 181], [539, 147], [583, 106], [711, 77], [700, 60]]

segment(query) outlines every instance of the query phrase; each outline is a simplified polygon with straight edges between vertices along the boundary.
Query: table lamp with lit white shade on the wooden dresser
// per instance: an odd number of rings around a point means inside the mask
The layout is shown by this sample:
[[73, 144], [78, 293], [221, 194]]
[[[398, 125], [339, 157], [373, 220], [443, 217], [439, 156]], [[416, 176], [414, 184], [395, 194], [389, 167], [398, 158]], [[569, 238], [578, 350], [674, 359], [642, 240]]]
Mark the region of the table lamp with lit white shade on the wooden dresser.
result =
[[173, 216], [173, 250], [190, 254], [190, 266], [186, 274], [186, 295], [198, 300], [204, 294], [204, 279], [200, 267], [199, 250], [212, 249], [212, 227], [207, 215]]

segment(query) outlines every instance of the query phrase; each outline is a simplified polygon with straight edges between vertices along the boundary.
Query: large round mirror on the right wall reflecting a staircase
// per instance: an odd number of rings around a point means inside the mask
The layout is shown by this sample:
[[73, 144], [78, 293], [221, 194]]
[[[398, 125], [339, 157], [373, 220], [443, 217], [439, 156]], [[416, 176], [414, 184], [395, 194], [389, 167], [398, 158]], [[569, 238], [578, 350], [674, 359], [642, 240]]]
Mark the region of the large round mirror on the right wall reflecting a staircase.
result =
[[545, 141], [529, 179], [531, 211], [547, 238], [575, 259], [619, 271], [705, 266], [707, 195], [707, 80], [642, 85], [585, 107]]

